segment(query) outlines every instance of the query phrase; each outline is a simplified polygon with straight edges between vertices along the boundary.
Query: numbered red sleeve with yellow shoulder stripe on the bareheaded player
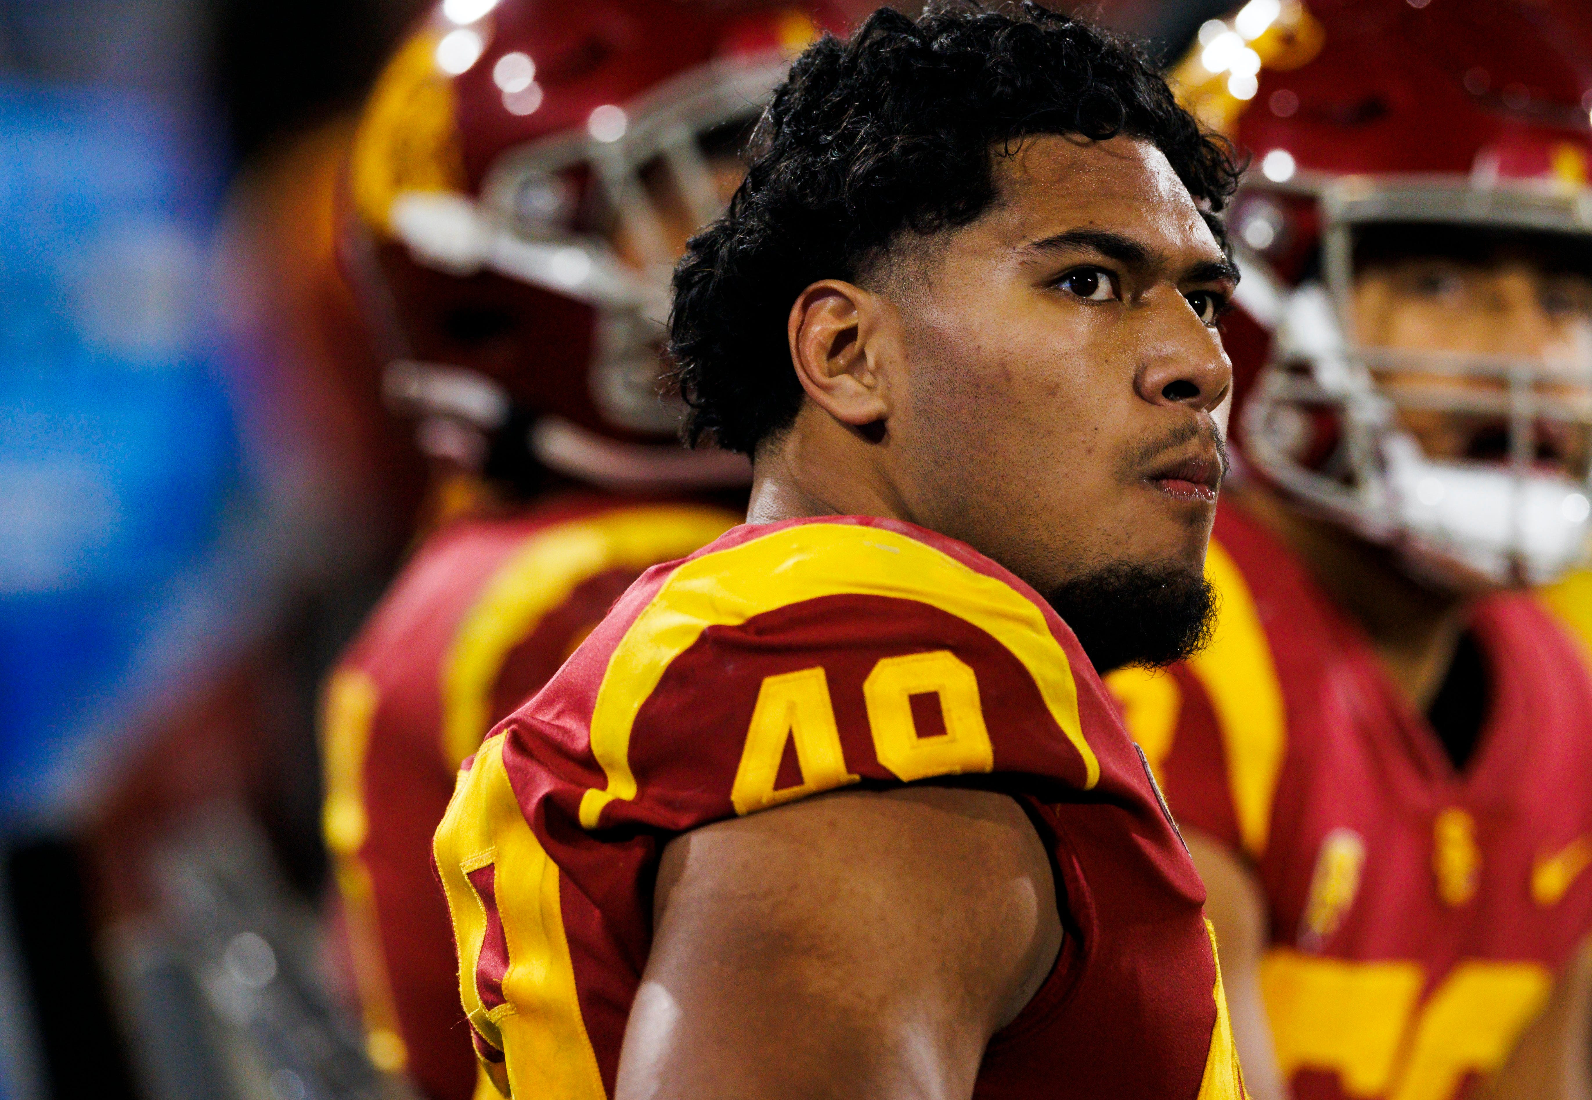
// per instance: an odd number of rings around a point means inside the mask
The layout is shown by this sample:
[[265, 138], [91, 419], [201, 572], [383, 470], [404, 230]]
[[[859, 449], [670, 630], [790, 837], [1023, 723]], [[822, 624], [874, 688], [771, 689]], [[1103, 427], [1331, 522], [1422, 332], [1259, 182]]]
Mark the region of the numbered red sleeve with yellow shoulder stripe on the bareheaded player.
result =
[[[1076, 642], [1020, 581], [954, 549], [801, 524], [681, 565], [595, 677], [581, 826], [685, 831], [954, 775], [1094, 786], [1089, 727], [1114, 716]], [[556, 718], [540, 712], [532, 732]]]

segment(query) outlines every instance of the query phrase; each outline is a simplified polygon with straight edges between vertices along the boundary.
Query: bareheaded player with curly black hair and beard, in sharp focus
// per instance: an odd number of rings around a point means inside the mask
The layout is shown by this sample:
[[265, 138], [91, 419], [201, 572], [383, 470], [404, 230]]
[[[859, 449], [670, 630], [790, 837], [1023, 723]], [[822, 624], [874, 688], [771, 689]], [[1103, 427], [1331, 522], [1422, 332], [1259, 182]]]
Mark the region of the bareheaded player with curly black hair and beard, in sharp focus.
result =
[[751, 522], [632, 586], [436, 834], [484, 1065], [562, 1100], [1242, 1097], [1204, 890], [1095, 675], [1210, 611], [1224, 146], [1028, 5], [823, 40], [756, 150], [672, 322]]

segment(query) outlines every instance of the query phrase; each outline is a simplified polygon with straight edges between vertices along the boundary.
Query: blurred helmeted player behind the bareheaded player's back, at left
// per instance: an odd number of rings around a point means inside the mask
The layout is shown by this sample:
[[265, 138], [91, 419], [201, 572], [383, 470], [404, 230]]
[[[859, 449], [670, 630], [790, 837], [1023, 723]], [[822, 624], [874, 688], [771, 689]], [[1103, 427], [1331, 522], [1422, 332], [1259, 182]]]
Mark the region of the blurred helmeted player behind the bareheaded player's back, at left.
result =
[[807, 8], [447, 0], [349, 169], [345, 264], [435, 463], [416, 551], [326, 686], [328, 847], [369, 1051], [476, 1081], [430, 839], [460, 761], [648, 565], [740, 519], [750, 470], [680, 447], [667, 275]]

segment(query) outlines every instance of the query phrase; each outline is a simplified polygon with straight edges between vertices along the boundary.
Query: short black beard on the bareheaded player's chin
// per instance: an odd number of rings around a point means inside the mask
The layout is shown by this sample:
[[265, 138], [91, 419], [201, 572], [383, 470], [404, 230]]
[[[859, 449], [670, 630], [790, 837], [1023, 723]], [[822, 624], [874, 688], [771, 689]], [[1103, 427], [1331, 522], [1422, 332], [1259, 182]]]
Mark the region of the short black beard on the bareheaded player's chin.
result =
[[1216, 589], [1184, 565], [1114, 562], [1048, 594], [1102, 677], [1199, 653], [1216, 624]]

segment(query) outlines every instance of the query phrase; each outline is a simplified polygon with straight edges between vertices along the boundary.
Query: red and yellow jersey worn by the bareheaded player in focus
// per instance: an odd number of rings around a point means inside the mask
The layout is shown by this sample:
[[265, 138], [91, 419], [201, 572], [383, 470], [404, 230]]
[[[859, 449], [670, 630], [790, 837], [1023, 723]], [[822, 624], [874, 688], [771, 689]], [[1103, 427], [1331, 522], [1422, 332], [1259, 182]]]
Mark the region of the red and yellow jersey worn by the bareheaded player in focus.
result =
[[858, 517], [648, 571], [462, 772], [436, 863], [494, 1079], [613, 1095], [670, 837], [949, 775], [1027, 804], [1067, 926], [974, 1095], [1242, 1097], [1204, 887], [1071, 632], [966, 546]]

